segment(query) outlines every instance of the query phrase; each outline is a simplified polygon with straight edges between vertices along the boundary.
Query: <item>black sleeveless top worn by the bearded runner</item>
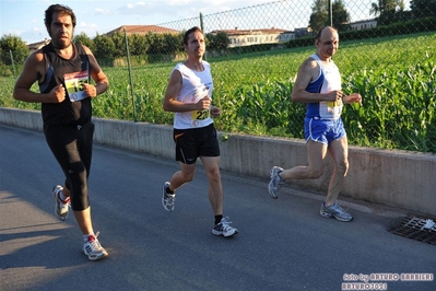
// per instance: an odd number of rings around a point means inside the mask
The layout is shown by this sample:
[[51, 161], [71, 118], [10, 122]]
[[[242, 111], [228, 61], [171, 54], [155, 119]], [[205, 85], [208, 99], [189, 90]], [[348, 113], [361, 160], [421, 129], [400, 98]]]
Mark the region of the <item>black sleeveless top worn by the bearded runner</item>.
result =
[[[74, 56], [72, 59], [60, 57], [51, 43], [43, 47], [44, 56], [48, 62], [44, 82], [39, 84], [40, 93], [48, 93], [58, 84], [66, 89], [64, 74], [87, 71], [90, 75], [90, 59], [79, 44], [73, 44]], [[45, 125], [83, 125], [91, 120], [91, 98], [71, 102], [66, 90], [66, 98], [61, 103], [43, 103], [43, 120]]]

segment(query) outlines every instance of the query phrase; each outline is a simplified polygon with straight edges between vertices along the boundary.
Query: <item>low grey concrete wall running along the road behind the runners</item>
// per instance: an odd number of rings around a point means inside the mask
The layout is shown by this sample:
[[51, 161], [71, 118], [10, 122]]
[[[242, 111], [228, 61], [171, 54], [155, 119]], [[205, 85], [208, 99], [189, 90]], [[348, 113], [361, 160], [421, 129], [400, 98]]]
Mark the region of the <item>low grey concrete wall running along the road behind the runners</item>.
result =
[[[43, 131], [39, 112], [0, 107], [0, 123]], [[174, 158], [173, 128], [146, 123], [93, 118], [96, 143]], [[220, 132], [221, 135], [221, 132]], [[302, 140], [228, 135], [221, 142], [221, 168], [269, 179], [271, 166], [307, 164]], [[436, 154], [350, 147], [350, 171], [341, 196], [436, 216]], [[292, 184], [327, 191], [332, 166], [317, 179]]]

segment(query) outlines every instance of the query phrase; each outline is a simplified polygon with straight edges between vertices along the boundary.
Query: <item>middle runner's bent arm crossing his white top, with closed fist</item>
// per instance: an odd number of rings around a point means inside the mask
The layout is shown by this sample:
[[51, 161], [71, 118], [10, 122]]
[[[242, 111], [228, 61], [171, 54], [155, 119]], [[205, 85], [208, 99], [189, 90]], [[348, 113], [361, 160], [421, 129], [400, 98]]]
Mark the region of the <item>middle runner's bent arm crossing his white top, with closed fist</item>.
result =
[[182, 103], [176, 100], [181, 88], [181, 73], [178, 70], [174, 70], [169, 75], [168, 85], [166, 88], [164, 97], [164, 110], [182, 113], [192, 110], [204, 110], [211, 107], [211, 98], [205, 96], [197, 103]]

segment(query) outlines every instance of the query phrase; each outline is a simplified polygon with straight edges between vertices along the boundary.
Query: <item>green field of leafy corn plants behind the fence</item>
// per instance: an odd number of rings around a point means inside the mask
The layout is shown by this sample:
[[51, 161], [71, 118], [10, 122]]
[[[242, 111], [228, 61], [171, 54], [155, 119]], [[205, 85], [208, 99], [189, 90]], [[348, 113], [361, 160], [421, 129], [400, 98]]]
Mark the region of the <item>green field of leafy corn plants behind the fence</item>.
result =
[[[435, 48], [436, 33], [340, 44], [334, 61], [343, 91], [363, 96], [363, 106], [344, 106], [350, 144], [436, 153]], [[293, 103], [291, 92], [301, 63], [314, 53], [315, 46], [208, 58], [213, 104], [222, 108], [217, 129], [302, 139], [305, 105]], [[132, 88], [127, 68], [103, 68], [110, 88], [93, 101], [94, 116], [170, 125], [173, 114], [162, 101], [174, 66], [133, 67]], [[39, 108], [12, 98], [14, 78], [0, 78], [0, 106]]]

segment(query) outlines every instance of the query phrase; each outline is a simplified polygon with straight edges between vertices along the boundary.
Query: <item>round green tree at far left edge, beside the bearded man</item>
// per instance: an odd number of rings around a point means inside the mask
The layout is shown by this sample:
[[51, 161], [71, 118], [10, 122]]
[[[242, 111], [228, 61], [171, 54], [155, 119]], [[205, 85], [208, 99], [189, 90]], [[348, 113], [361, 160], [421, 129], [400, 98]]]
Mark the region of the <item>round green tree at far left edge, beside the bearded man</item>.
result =
[[12, 65], [10, 51], [12, 51], [14, 63], [23, 63], [30, 54], [26, 43], [21, 37], [11, 34], [0, 38], [0, 51], [2, 51], [1, 61], [7, 66]]

